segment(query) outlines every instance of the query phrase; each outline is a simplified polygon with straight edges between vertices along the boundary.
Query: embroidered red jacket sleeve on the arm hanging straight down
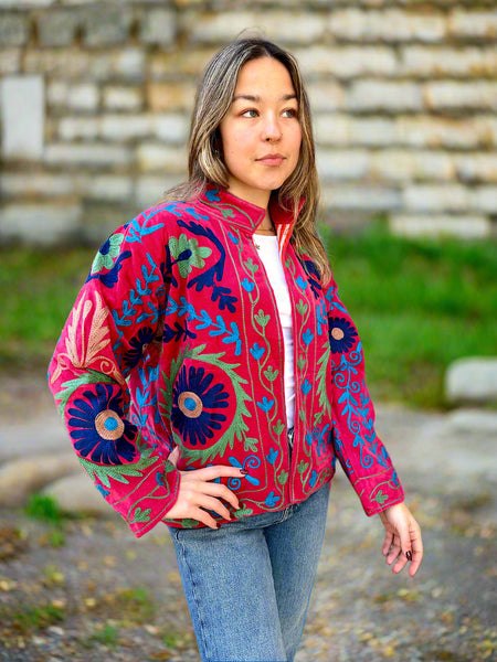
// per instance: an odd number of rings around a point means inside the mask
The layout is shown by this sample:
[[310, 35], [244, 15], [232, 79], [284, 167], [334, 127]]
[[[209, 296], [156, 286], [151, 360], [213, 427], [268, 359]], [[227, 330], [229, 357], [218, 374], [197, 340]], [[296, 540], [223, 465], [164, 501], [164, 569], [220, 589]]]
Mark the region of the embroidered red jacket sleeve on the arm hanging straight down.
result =
[[334, 444], [367, 515], [404, 499], [385, 447], [374, 431], [374, 408], [364, 380], [362, 344], [337, 285], [326, 291], [331, 349]]

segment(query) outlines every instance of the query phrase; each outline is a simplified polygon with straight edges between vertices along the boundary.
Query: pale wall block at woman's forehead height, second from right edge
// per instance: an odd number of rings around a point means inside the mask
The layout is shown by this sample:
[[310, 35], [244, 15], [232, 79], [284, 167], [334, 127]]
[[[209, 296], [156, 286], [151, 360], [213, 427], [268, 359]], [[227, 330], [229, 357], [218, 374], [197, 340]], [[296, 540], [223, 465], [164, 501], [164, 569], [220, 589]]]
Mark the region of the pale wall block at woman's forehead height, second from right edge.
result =
[[423, 98], [421, 86], [408, 81], [357, 81], [346, 96], [350, 110], [421, 110]]

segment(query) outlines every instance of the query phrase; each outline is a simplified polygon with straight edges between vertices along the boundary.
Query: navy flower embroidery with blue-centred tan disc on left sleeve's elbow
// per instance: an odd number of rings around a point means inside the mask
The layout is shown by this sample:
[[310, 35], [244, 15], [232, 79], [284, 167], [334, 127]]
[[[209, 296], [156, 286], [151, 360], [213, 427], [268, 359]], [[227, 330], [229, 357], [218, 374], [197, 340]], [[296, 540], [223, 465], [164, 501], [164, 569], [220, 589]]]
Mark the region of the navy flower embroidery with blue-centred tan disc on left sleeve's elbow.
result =
[[113, 386], [97, 384], [95, 393], [85, 391], [68, 409], [68, 426], [77, 452], [101, 465], [124, 465], [135, 459], [130, 442], [135, 433], [131, 424], [123, 420], [123, 403], [113, 395]]

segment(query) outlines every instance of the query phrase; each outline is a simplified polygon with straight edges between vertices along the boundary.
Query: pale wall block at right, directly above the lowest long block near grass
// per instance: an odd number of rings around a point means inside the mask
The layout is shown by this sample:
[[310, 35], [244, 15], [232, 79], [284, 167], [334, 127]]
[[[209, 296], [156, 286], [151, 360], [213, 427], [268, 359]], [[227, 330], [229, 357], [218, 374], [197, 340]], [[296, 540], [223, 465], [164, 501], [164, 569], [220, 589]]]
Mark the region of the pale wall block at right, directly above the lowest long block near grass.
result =
[[402, 195], [406, 210], [426, 212], [465, 212], [469, 192], [462, 184], [412, 184]]

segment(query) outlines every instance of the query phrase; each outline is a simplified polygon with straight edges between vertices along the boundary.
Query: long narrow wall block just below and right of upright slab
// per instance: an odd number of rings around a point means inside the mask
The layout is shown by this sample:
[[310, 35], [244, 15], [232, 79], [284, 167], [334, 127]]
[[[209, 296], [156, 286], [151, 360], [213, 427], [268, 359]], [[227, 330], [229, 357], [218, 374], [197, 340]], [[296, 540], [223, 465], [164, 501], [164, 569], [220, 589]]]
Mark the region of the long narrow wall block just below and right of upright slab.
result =
[[55, 142], [45, 148], [43, 160], [49, 166], [129, 166], [131, 152], [120, 145]]

